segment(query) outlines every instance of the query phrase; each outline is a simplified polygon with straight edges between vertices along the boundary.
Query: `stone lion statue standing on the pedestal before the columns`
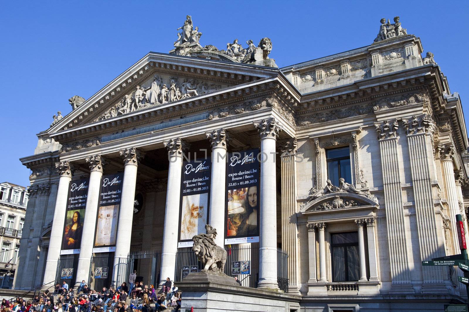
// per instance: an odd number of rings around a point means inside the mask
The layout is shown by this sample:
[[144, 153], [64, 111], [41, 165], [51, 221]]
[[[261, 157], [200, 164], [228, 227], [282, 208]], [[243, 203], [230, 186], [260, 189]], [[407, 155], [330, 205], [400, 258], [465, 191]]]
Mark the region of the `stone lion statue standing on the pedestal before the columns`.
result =
[[205, 225], [205, 230], [206, 234], [201, 233], [192, 237], [194, 241], [192, 251], [204, 265], [201, 272], [224, 274], [227, 251], [215, 243], [214, 239], [217, 236], [216, 229], [210, 225]]

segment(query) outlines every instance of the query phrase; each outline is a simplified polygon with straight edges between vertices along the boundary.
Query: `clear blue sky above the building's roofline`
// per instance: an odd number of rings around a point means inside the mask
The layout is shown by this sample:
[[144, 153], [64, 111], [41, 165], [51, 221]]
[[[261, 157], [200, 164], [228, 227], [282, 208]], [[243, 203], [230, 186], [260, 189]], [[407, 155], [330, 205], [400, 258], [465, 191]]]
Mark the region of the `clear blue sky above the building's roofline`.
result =
[[382, 17], [401, 16], [409, 34], [459, 92], [469, 116], [468, 1], [2, 1], [0, 181], [29, 185], [18, 160], [32, 155], [68, 99], [88, 99], [149, 51], [168, 52], [185, 15], [202, 45], [226, 48], [270, 37], [280, 67], [373, 42]]

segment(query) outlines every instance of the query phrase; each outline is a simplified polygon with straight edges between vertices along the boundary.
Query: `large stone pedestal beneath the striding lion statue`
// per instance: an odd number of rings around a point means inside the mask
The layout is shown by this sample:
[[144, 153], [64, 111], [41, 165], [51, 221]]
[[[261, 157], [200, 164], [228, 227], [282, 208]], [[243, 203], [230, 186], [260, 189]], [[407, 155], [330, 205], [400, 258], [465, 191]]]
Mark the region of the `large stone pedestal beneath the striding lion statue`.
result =
[[181, 311], [194, 312], [298, 310], [301, 296], [241, 287], [234, 278], [221, 274], [190, 273], [175, 283], [182, 291]]

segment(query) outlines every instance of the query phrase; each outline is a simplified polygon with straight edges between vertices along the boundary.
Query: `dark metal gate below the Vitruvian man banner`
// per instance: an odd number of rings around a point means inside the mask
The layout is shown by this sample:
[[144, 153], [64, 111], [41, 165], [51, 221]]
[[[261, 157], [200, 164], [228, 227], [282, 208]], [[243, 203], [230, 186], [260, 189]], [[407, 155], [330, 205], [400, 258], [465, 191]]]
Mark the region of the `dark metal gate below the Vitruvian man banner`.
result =
[[[101, 290], [108, 288], [113, 279], [114, 253], [98, 253], [91, 256], [90, 279], [88, 286], [90, 289]], [[103, 274], [104, 272], [104, 274]]]

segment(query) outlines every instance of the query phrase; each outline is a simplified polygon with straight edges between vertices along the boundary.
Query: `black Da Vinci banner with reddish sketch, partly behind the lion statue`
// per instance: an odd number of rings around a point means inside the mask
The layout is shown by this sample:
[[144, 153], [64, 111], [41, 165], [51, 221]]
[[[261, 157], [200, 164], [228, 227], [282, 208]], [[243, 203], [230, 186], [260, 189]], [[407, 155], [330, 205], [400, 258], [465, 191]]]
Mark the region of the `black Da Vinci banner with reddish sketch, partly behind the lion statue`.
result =
[[192, 247], [192, 237], [205, 233], [210, 204], [211, 160], [182, 164], [178, 248]]

